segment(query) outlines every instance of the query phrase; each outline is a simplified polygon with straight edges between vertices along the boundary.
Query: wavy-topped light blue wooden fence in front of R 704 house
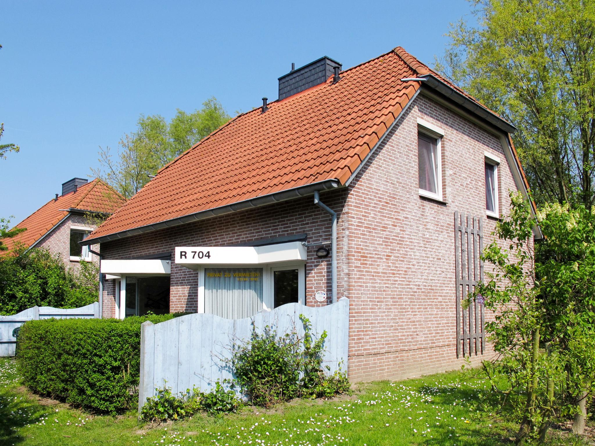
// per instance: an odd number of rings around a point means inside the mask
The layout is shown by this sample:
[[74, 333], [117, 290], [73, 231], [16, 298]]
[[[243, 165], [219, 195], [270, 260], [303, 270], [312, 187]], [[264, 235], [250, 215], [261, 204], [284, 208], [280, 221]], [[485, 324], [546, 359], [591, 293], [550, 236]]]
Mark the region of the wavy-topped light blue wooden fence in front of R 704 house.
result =
[[139, 411], [146, 398], [155, 394], [155, 388], [165, 385], [174, 394], [193, 387], [208, 392], [215, 382], [233, 378], [226, 359], [230, 357], [232, 344], [250, 339], [252, 321], [260, 332], [268, 325], [279, 335], [295, 329], [301, 336], [300, 315], [310, 319], [316, 338], [327, 332], [324, 365], [329, 366], [330, 373], [339, 365], [347, 370], [349, 299], [346, 298], [323, 307], [289, 303], [245, 319], [196, 313], [157, 324], [144, 322], [140, 335]]

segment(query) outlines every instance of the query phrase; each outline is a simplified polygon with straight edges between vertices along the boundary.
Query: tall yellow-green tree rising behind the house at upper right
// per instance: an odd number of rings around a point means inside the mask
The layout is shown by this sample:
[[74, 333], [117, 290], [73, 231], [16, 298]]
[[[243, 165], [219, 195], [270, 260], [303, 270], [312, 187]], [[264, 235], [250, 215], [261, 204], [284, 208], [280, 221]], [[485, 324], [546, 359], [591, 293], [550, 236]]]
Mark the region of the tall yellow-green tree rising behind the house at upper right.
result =
[[595, 3], [470, 0], [437, 68], [514, 124], [538, 204], [595, 202]]

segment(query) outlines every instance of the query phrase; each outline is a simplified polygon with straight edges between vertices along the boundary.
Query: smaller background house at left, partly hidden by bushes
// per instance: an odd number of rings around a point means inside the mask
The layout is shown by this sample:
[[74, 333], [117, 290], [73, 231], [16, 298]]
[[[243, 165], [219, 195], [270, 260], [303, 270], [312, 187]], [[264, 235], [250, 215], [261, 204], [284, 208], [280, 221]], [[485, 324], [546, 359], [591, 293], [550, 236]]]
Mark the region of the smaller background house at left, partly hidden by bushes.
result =
[[64, 265], [79, 268], [80, 262], [99, 263], [96, 246], [81, 246], [101, 221], [114, 213], [124, 199], [99, 179], [73, 178], [62, 184], [62, 194], [33, 212], [15, 227], [26, 228], [16, 237], [3, 240], [8, 249], [15, 246], [46, 248], [60, 255]]

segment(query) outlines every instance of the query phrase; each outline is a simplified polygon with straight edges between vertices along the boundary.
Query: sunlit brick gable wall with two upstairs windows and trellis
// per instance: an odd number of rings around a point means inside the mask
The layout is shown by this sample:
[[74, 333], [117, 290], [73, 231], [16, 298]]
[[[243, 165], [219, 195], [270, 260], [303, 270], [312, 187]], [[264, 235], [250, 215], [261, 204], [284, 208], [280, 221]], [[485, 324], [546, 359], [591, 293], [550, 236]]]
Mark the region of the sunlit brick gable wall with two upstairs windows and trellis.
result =
[[[419, 196], [418, 118], [444, 130], [443, 202]], [[484, 152], [502, 161], [503, 212], [516, 186], [499, 139], [419, 96], [350, 186], [344, 224], [352, 379], [405, 378], [462, 363], [456, 358], [453, 213], [481, 216], [484, 246], [491, 241], [496, 219], [486, 216]], [[486, 356], [489, 347], [480, 359]]]

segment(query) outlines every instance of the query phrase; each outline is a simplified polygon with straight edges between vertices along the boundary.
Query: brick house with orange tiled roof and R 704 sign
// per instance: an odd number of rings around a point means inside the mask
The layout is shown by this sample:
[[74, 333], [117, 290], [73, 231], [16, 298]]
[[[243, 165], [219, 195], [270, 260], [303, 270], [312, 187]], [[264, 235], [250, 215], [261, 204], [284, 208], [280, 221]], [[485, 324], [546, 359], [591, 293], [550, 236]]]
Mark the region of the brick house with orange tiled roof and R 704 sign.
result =
[[[235, 319], [348, 297], [353, 380], [490, 351], [483, 309], [461, 300], [483, 271], [480, 234], [507, 212], [509, 190], [527, 197], [512, 125], [402, 48], [344, 71], [318, 59], [263, 101], [89, 236], [101, 244], [103, 316]], [[481, 227], [455, 224], [456, 212]]]

